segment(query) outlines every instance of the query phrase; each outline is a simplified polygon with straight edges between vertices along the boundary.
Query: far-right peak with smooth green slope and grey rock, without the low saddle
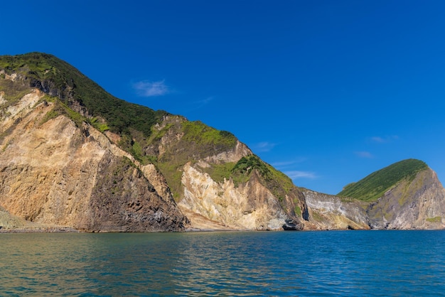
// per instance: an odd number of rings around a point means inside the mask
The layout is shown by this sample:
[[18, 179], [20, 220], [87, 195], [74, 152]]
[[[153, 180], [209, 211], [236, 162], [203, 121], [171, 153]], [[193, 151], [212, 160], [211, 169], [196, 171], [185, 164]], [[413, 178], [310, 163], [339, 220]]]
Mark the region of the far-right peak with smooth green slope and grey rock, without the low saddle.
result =
[[394, 163], [347, 185], [338, 195], [368, 202], [372, 229], [445, 227], [445, 190], [423, 161]]

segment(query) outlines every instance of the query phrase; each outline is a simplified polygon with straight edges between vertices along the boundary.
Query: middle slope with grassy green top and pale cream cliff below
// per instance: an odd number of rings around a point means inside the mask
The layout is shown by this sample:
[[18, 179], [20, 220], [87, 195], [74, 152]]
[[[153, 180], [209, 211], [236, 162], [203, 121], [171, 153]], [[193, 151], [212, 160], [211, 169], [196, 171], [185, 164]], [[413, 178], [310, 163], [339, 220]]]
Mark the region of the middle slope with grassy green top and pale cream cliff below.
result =
[[[302, 229], [306, 203], [291, 180], [225, 131], [181, 117], [154, 127], [145, 151], [192, 228]], [[207, 219], [208, 226], [193, 218]]]

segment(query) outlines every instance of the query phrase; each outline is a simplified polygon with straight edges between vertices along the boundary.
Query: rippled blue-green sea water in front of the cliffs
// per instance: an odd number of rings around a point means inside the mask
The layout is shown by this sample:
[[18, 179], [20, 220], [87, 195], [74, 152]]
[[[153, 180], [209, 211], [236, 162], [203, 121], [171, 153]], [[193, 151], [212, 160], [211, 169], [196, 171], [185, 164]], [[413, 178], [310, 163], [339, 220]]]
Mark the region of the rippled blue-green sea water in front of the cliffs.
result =
[[0, 296], [445, 296], [445, 231], [0, 234]]

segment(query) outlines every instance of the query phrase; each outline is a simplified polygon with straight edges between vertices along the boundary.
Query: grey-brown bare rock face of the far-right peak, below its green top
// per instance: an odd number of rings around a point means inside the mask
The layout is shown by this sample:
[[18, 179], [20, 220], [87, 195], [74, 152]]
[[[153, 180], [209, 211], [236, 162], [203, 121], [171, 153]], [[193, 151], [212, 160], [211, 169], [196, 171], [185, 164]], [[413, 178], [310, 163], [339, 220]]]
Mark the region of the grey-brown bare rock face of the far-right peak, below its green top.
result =
[[445, 190], [431, 169], [388, 190], [368, 208], [373, 229], [443, 229]]

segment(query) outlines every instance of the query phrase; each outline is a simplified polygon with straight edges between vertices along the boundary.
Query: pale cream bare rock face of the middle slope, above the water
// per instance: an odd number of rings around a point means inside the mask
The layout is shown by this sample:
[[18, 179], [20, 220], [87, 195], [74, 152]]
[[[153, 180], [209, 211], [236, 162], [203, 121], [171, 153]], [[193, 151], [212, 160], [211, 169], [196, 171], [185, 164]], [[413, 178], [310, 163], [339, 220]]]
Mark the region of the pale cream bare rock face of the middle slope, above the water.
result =
[[289, 219], [274, 195], [254, 179], [238, 187], [232, 180], [216, 183], [188, 163], [182, 183], [181, 208], [230, 229], [277, 230]]

